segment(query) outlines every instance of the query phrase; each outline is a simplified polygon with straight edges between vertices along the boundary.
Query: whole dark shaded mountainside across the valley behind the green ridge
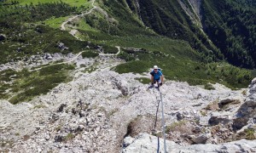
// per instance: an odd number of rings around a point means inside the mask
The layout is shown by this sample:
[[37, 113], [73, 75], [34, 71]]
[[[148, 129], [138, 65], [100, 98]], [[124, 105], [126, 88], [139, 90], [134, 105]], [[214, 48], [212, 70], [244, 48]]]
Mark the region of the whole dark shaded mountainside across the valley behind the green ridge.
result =
[[[188, 41], [193, 48], [204, 53], [207, 58], [210, 57], [208, 60], [224, 58], [232, 65], [255, 67], [256, 20], [252, 18], [256, 14], [255, 2], [247, 0], [127, 0], [126, 2], [143, 20], [145, 26], [160, 35]], [[204, 32], [200, 30], [201, 27]], [[213, 55], [209, 50], [213, 51]]]

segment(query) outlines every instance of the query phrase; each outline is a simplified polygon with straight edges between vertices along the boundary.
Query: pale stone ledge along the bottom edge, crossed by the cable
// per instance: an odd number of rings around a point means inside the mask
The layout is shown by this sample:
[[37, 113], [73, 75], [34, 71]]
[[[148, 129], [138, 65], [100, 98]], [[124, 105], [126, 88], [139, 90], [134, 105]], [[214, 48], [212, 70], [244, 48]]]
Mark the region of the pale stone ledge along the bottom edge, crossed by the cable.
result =
[[[148, 133], [140, 133], [136, 138], [127, 137], [125, 142], [129, 142], [128, 146], [123, 149], [123, 153], [130, 152], [164, 152], [164, 140], [158, 139]], [[160, 145], [160, 147], [158, 147]], [[224, 144], [194, 144], [189, 146], [178, 145], [173, 141], [166, 141], [166, 151], [173, 153], [203, 153], [203, 152], [253, 152], [256, 148], [256, 140], [249, 141], [241, 139]]]

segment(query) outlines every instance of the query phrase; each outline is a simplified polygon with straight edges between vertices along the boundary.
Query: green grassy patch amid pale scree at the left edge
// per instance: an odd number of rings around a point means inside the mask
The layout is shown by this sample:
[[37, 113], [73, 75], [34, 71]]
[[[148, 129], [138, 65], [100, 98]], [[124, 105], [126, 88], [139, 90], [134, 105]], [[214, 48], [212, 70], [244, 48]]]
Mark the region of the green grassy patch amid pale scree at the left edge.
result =
[[[9, 99], [12, 104], [30, 100], [34, 96], [47, 94], [61, 82], [70, 81], [68, 71], [73, 65], [49, 65], [39, 71], [6, 70], [0, 72], [0, 99]], [[6, 90], [9, 92], [6, 92]]]

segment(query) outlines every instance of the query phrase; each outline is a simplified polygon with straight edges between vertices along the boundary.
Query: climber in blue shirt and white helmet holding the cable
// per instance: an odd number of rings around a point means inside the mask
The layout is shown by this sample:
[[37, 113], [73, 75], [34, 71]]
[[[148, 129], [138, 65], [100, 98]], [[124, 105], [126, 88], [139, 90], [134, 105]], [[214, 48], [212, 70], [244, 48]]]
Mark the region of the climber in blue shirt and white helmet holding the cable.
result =
[[154, 83], [157, 82], [158, 87], [163, 84], [164, 77], [160, 68], [157, 65], [154, 65], [154, 70], [150, 72], [151, 75], [151, 86], [154, 86]]

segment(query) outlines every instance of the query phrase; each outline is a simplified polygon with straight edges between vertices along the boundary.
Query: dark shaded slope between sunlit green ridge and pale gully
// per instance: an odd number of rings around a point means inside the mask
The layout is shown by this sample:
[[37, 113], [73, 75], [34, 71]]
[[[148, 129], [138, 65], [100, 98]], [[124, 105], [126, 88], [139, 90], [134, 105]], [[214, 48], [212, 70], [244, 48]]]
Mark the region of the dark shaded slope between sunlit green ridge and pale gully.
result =
[[191, 47], [203, 53], [208, 61], [222, 59], [218, 48], [208, 41], [199, 26], [195, 26], [177, 0], [126, 2], [133, 12], [139, 13], [145, 26], [160, 35], [189, 42]]

